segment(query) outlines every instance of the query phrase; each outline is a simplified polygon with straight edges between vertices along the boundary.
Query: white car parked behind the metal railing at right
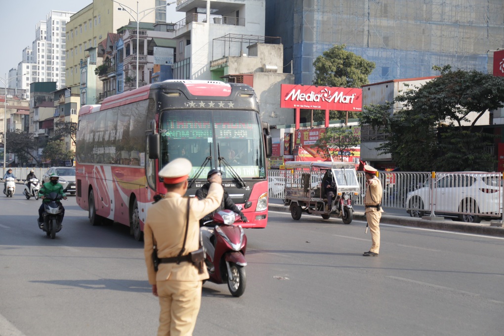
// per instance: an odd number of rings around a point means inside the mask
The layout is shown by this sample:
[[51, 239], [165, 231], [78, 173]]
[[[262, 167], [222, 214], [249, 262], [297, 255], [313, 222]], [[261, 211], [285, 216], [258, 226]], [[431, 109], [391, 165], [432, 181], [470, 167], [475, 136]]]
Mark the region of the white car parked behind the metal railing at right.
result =
[[430, 214], [431, 197], [437, 216], [453, 217], [469, 223], [500, 216], [502, 187], [498, 174], [461, 172], [439, 175], [433, 190], [431, 182], [426, 181], [421, 188], [408, 193], [406, 207], [411, 217]]

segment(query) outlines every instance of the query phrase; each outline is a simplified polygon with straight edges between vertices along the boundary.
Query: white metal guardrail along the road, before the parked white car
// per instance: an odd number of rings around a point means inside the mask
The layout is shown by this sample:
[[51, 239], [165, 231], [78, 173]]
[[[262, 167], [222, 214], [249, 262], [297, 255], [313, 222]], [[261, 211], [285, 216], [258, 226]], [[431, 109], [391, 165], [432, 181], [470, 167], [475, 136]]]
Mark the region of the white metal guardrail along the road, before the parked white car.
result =
[[[362, 206], [364, 173], [357, 172], [357, 178], [360, 192], [354, 200]], [[380, 172], [379, 178], [384, 208], [403, 209], [414, 217], [443, 215], [469, 222], [502, 216], [503, 180], [498, 172]], [[269, 170], [268, 181], [270, 197], [283, 199], [285, 171]], [[312, 184], [320, 182], [319, 176], [312, 176]]]

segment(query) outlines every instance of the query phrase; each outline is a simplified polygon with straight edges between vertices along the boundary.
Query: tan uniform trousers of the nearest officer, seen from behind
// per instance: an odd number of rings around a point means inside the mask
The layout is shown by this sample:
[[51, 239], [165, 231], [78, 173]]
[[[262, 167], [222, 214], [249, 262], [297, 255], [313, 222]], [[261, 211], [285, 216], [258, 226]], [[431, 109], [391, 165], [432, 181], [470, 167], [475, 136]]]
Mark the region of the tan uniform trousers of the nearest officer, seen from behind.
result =
[[201, 306], [202, 281], [158, 281], [158, 336], [191, 336]]

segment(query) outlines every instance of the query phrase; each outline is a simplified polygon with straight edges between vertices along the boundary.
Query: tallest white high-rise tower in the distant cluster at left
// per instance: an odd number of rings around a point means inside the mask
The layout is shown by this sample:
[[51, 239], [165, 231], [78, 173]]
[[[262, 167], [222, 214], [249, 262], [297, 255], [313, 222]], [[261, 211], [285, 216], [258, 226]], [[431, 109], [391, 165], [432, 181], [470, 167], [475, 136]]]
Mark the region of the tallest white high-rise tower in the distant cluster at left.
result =
[[32, 46], [37, 69], [31, 73], [31, 82], [56, 82], [57, 88], [65, 87], [65, 31], [72, 14], [51, 11], [45, 21], [37, 23]]

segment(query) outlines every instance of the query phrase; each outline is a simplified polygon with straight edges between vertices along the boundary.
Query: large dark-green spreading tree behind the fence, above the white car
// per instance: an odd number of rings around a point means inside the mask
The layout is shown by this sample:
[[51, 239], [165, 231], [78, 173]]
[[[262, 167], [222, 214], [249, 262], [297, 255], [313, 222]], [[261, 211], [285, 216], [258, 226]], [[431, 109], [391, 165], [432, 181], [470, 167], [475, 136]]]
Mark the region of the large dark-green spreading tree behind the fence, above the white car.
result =
[[[484, 148], [493, 146], [494, 137], [477, 122], [504, 105], [504, 79], [449, 65], [434, 69], [439, 77], [393, 102], [364, 106], [361, 124], [388, 135], [377, 149], [390, 153], [402, 170], [493, 170], [495, 158]], [[391, 113], [393, 106], [399, 110]]]

